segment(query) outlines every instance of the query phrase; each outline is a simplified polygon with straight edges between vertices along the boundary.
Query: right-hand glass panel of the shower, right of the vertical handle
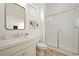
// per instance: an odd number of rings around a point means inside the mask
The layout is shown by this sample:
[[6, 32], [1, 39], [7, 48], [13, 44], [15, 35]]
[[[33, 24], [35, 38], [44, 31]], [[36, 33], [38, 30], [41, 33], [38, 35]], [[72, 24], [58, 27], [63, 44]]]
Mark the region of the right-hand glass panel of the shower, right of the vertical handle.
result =
[[78, 53], [78, 14], [78, 10], [71, 10], [52, 17], [60, 26], [59, 48], [72, 53]]

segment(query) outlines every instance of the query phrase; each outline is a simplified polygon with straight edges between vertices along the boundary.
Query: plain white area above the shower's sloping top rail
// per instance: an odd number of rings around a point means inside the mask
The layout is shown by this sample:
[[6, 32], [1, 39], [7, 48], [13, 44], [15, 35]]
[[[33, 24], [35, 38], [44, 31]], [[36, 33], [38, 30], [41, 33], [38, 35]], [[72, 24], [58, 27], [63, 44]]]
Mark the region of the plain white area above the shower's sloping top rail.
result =
[[79, 6], [79, 3], [47, 3], [45, 15], [55, 14]]

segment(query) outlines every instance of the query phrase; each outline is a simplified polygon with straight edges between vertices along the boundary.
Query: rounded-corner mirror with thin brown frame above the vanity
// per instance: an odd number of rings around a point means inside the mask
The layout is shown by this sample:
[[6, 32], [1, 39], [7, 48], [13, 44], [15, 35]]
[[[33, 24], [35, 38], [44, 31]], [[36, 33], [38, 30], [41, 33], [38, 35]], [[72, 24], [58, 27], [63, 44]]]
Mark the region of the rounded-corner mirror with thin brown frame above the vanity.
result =
[[9, 30], [25, 29], [25, 8], [16, 3], [5, 4], [5, 28]]

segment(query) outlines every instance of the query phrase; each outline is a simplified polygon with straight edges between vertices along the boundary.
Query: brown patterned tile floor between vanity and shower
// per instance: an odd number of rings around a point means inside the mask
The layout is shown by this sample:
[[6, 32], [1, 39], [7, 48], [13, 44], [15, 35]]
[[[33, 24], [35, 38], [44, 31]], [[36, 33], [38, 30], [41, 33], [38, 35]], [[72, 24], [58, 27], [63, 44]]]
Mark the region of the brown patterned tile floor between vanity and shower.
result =
[[41, 51], [37, 51], [37, 56], [65, 56], [62, 52], [58, 52], [54, 49], [47, 48]]

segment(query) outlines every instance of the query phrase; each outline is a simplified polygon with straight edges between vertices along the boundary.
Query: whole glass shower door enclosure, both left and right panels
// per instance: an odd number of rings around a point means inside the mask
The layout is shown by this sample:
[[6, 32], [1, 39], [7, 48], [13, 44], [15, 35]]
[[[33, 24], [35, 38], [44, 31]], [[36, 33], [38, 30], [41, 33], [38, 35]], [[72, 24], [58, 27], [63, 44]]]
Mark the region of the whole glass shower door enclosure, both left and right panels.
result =
[[[78, 28], [79, 10], [71, 10], [51, 16], [59, 24], [59, 48], [78, 54]], [[46, 20], [46, 43], [57, 47], [57, 32], [52, 21]]]

